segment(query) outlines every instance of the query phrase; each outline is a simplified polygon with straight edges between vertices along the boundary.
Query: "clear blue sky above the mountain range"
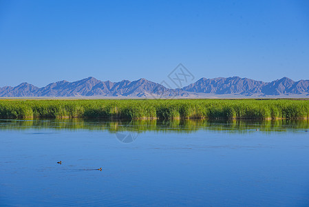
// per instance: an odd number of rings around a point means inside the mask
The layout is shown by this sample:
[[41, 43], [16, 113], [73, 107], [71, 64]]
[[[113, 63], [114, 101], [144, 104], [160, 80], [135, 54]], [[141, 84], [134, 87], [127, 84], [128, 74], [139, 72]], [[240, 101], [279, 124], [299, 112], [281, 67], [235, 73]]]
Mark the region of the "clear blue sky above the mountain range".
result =
[[309, 1], [0, 0], [0, 87], [96, 77], [309, 79]]

